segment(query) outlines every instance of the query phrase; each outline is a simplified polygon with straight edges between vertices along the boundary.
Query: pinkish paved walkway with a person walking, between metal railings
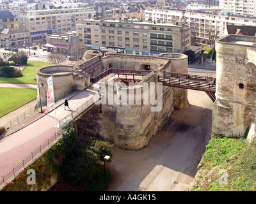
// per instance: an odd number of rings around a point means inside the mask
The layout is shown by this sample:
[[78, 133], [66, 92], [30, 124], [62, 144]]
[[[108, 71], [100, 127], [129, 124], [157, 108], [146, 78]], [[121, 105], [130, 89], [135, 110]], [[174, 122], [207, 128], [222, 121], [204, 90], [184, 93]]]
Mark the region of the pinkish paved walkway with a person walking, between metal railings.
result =
[[[84, 91], [68, 94], [70, 109], [75, 110], [90, 100], [96, 92], [91, 86]], [[0, 177], [56, 133], [56, 122], [58, 127], [58, 121], [71, 112], [64, 110], [63, 103], [64, 99], [55, 103], [55, 111], [53, 106], [43, 106], [44, 113], [36, 113], [12, 132], [2, 135], [0, 138]]]

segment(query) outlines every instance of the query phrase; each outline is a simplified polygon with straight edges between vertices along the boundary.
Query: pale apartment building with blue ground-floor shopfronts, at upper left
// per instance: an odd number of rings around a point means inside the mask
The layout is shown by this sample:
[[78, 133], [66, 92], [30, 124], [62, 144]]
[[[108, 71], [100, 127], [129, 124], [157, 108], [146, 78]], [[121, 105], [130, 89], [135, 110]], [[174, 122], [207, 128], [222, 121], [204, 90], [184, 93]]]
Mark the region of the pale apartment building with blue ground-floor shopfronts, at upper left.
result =
[[93, 17], [93, 8], [67, 8], [20, 12], [19, 28], [31, 34], [31, 40], [42, 40], [46, 34], [75, 31], [80, 19]]

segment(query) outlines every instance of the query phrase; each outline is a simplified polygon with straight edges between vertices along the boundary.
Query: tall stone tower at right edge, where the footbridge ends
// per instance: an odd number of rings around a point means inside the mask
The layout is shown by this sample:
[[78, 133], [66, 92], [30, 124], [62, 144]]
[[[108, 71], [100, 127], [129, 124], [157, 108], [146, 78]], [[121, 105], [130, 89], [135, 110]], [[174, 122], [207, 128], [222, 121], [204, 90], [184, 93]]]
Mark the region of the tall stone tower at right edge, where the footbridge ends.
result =
[[255, 37], [228, 35], [216, 41], [216, 101], [212, 133], [228, 137], [247, 136], [255, 124]]

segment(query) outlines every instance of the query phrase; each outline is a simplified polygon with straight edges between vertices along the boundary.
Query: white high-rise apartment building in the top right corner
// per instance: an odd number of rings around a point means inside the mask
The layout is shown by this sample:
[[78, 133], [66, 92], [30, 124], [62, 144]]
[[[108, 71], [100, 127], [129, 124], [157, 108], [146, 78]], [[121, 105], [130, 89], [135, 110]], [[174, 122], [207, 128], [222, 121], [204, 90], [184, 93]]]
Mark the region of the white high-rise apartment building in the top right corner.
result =
[[220, 8], [234, 15], [248, 15], [256, 17], [255, 0], [220, 0]]

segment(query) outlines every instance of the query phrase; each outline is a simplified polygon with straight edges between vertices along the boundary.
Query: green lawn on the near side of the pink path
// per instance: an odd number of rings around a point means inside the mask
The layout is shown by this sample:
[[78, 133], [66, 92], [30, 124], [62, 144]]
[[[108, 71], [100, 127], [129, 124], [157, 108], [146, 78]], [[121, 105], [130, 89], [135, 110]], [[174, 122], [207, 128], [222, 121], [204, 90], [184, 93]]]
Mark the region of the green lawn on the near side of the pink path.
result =
[[0, 87], [0, 117], [36, 98], [36, 89]]

